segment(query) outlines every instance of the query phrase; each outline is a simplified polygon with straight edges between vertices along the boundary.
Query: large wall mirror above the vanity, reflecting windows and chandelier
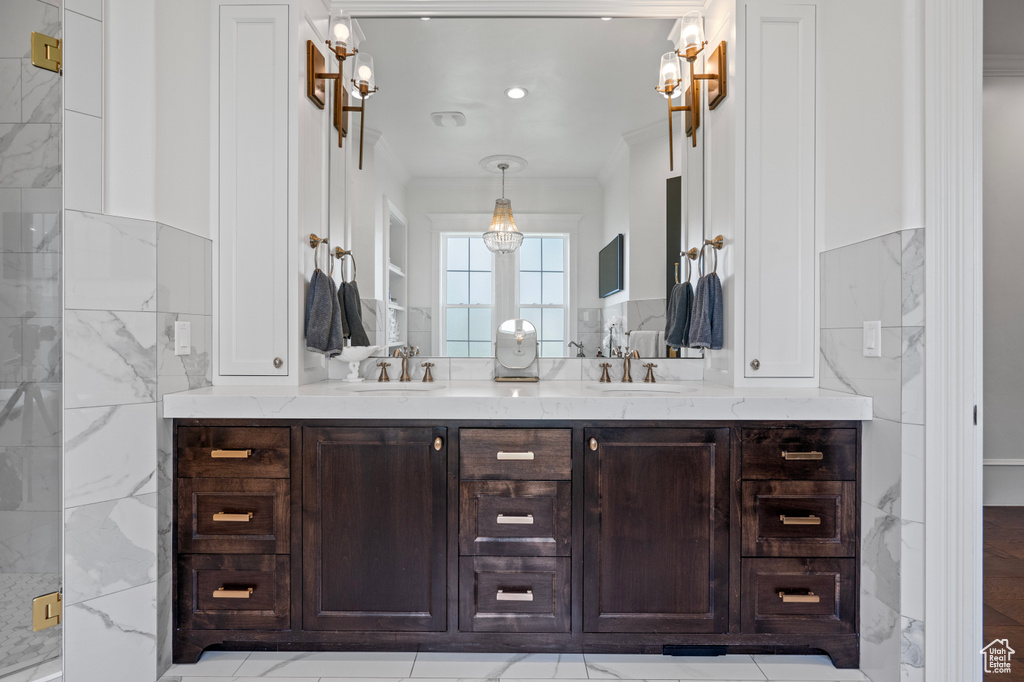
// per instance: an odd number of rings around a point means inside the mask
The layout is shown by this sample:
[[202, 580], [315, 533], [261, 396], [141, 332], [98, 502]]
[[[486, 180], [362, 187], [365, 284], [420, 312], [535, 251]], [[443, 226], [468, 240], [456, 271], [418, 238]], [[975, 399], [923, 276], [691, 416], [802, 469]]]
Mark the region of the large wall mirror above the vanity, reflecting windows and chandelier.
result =
[[[673, 115], [670, 169], [669, 104], [654, 89], [675, 20], [355, 18], [380, 91], [362, 170], [358, 115], [349, 153], [332, 155], [332, 201], [345, 203], [332, 222], [344, 215], [376, 342], [489, 357], [499, 325], [523, 317], [542, 357], [595, 357], [664, 330], [680, 262], [670, 251], [703, 240], [702, 126], [693, 145]], [[501, 163], [524, 235], [504, 255], [481, 239]], [[622, 290], [602, 298], [599, 254], [618, 235]]]

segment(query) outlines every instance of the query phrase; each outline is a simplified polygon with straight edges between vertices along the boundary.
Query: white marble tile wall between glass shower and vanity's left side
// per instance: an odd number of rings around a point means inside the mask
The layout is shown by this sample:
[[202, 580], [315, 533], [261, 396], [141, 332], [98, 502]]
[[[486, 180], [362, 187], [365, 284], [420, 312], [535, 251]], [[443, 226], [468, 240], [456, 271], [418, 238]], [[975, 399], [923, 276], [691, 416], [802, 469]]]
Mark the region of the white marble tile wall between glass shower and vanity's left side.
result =
[[[211, 383], [212, 245], [145, 220], [68, 210], [65, 221], [66, 679], [110, 679], [95, 651], [131, 646], [139, 655], [119, 668], [153, 680], [170, 665], [161, 401]], [[175, 322], [191, 326], [187, 355], [174, 354]]]

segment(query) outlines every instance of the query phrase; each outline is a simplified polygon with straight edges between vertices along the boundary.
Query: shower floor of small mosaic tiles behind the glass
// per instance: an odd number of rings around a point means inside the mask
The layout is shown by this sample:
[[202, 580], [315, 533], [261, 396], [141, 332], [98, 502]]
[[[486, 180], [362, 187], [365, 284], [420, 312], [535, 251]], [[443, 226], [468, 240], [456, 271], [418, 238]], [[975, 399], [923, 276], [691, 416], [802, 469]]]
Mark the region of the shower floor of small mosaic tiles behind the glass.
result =
[[0, 680], [60, 655], [60, 628], [32, 631], [32, 600], [60, 584], [56, 573], [0, 573]]

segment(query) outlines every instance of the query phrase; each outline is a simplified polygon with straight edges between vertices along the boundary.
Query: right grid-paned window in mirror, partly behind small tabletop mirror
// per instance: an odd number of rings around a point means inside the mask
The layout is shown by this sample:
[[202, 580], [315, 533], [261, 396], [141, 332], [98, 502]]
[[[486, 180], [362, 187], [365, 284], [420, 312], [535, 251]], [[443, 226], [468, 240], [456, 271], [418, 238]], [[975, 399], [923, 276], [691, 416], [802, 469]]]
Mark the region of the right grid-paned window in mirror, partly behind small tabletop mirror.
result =
[[519, 316], [537, 328], [542, 357], [563, 357], [568, 295], [564, 236], [527, 237], [519, 249]]

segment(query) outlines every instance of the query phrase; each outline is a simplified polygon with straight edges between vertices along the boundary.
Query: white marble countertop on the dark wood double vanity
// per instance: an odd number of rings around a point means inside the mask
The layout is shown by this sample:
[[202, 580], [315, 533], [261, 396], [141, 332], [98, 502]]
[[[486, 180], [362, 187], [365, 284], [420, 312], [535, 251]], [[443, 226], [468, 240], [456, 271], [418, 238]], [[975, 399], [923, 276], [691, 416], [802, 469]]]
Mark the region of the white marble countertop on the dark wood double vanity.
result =
[[[427, 386], [432, 390], [424, 390]], [[624, 387], [629, 390], [624, 391]], [[818, 388], [732, 388], [700, 381], [652, 385], [324, 381], [305, 386], [211, 386], [169, 393], [164, 396], [164, 417], [866, 421], [871, 419], [871, 398]]]

